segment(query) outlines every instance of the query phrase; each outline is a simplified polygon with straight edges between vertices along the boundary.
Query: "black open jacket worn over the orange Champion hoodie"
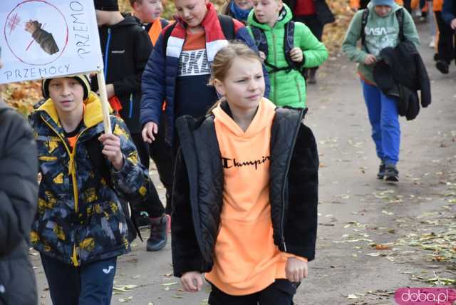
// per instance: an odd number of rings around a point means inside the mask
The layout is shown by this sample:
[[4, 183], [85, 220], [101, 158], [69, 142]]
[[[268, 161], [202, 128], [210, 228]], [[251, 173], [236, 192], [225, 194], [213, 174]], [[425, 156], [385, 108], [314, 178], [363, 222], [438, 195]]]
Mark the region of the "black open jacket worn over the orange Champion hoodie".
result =
[[[229, 113], [227, 105], [222, 108]], [[304, 110], [276, 108], [271, 128], [269, 201], [274, 244], [311, 261], [315, 257], [318, 153]], [[180, 148], [172, 192], [174, 275], [209, 272], [219, 232], [224, 172], [214, 116], [177, 119]], [[248, 232], [246, 232], [248, 234]]]

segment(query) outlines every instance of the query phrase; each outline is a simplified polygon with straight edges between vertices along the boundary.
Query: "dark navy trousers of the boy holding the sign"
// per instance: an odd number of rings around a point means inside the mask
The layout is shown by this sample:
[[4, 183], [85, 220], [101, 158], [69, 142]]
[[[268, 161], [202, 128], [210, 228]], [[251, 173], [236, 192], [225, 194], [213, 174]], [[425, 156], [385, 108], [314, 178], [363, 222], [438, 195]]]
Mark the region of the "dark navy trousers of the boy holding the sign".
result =
[[53, 305], [109, 305], [117, 257], [73, 267], [41, 254]]

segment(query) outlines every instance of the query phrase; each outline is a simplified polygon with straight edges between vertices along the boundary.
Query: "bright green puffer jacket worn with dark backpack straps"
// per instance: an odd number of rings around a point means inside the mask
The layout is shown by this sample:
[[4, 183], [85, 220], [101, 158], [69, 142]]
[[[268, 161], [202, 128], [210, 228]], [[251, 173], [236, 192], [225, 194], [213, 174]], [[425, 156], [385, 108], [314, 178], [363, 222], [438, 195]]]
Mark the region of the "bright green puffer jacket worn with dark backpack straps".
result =
[[[266, 61], [277, 68], [288, 66], [284, 52], [285, 24], [291, 21], [293, 15], [286, 4], [281, 10], [279, 21], [273, 28], [268, 24], [260, 24], [254, 16], [254, 10], [249, 14], [247, 24], [250, 35], [251, 26], [255, 26], [264, 31], [268, 41], [268, 57]], [[294, 46], [299, 46], [304, 51], [304, 68], [320, 66], [326, 58], [328, 51], [326, 47], [318, 41], [311, 30], [301, 22], [295, 22], [294, 26]], [[268, 67], [268, 71], [271, 69]], [[306, 107], [306, 81], [299, 71], [291, 70], [279, 71], [269, 75], [271, 80], [271, 93], [269, 99], [279, 106], [290, 106], [294, 108]]]

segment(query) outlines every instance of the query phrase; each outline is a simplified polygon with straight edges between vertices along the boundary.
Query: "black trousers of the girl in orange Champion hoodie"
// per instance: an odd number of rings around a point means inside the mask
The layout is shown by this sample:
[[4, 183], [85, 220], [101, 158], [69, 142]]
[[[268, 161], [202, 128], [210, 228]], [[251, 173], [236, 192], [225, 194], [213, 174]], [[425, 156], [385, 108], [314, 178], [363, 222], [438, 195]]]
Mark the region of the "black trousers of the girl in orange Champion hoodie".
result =
[[276, 279], [265, 289], [246, 296], [232, 296], [212, 285], [209, 305], [293, 305], [293, 296], [299, 284], [287, 279]]

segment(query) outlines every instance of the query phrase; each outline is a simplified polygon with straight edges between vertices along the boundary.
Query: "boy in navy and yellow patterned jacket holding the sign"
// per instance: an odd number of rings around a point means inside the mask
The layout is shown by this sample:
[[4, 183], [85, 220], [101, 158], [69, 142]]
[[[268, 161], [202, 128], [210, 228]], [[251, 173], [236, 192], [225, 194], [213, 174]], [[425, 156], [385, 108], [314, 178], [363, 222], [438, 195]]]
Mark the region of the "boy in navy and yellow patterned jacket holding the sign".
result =
[[31, 243], [40, 252], [54, 305], [110, 304], [117, 257], [130, 251], [120, 198], [147, 196], [149, 177], [123, 120], [110, 116], [83, 75], [43, 81], [31, 115], [39, 171]]

